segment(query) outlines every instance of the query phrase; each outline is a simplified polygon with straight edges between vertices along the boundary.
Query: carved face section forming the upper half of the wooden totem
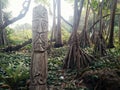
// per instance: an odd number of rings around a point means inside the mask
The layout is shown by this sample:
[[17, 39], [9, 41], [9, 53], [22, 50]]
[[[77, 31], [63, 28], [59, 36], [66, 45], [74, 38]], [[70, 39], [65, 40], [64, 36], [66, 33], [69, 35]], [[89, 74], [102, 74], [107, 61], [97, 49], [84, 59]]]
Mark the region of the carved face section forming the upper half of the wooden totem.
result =
[[[41, 5], [39, 5], [41, 7]], [[36, 7], [33, 13], [33, 50], [45, 51], [47, 48], [48, 17], [45, 8]]]

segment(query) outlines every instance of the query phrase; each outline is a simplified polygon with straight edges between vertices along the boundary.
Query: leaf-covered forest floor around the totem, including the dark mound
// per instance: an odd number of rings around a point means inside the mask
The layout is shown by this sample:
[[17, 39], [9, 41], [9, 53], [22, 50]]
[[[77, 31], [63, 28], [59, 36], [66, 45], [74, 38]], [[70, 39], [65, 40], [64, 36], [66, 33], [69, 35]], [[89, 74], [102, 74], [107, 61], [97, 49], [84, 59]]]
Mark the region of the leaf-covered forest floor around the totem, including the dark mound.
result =
[[[91, 49], [86, 49], [91, 53]], [[81, 70], [62, 68], [68, 47], [48, 51], [48, 88], [54, 90], [120, 90], [120, 49], [108, 51]], [[28, 90], [31, 52], [0, 53], [0, 90]]]

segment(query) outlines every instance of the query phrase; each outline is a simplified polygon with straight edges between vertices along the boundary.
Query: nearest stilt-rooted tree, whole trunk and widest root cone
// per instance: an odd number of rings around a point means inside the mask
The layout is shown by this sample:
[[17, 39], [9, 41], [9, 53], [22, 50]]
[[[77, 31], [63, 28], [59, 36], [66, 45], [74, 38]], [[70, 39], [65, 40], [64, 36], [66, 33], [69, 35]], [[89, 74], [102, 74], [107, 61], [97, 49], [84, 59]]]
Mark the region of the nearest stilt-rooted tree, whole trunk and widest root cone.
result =
[[[84, 0], [81, 1], [83, 4]], [[79, 12], [78, 16], [78, 0], [74, 2], [74, 24], [73, 24], [73, 32], [70, 37], [70, 47], [68, 54], [64, 60], [63, 69], [74, 69], [77, 68], [78, 70], [81, 68], [85, 68], [89, 66], [94, 60], [94, 58], [87, 53], [85, 53], [79, 46], [79, 37], [77, 36], [77, 29], [79, 25], [79, 19], [81, 11]]]

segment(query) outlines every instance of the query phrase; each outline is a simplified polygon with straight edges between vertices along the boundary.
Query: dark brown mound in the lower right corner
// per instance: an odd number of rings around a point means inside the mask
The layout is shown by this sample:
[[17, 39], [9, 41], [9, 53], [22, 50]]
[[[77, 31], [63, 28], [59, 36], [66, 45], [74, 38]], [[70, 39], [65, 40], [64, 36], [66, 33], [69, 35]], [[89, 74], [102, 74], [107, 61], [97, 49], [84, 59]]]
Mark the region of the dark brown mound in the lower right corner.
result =
[[89, 90], [120, 90], [120, 70], [101, 69], [85, 71], [80, 80]]

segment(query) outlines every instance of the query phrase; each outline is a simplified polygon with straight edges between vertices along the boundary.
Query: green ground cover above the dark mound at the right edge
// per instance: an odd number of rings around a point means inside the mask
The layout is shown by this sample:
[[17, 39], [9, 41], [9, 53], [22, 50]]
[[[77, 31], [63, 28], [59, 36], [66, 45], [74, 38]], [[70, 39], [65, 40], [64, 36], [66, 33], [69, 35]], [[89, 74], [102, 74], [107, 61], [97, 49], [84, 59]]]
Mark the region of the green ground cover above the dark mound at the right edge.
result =
[[91, 67], [92, 69], [117, 68], [120, 69], [120, 48], [114, 48], [107, 51], [108, 55], [100, 57]]

